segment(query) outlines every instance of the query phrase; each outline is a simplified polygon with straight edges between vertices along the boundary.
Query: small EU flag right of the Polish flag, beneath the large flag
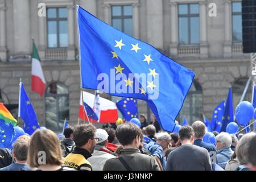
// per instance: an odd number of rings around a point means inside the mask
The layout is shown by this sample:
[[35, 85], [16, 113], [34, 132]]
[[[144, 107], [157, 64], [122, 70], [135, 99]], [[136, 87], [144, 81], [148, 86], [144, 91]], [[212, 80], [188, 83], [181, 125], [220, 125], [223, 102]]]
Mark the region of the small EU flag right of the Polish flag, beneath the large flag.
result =
[[126, 121], [130, 121], [132, 118], [138, 118], [137, 99], [123, 98], [117, 101], [116, 105]]

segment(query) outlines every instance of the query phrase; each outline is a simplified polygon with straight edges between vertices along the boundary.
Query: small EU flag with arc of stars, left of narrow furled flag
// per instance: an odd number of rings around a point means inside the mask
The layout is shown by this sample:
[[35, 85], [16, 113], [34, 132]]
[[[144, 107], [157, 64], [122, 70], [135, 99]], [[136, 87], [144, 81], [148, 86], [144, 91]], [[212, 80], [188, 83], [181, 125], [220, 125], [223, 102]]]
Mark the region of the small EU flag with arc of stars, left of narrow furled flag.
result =
[[222, 116], [224, 110], [225, 101], [222, 101], [212, 113], [212, 121], [210, 121], [210, 125], [212, 126], [212, 131], [218, 131], [220, 133], [221, 124], [222, 124]]

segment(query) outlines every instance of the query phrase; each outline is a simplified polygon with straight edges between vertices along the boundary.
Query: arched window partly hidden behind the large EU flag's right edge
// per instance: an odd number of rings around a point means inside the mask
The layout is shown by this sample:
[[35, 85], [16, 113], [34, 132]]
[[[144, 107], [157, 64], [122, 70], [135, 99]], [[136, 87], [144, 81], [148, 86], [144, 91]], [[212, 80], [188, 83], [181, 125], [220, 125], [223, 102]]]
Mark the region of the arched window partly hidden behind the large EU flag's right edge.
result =
[[187, 97], [183, 103], [183, 107], [180, 110], [179, 120], [180, 125], [182, 125], [184, 118], [187, 119], [188, 125], [192, 125], [194, 121], [200, 120], [203, 113], [203, 90], [199, 82], [193, 81], [191, 88], [188, 91]]

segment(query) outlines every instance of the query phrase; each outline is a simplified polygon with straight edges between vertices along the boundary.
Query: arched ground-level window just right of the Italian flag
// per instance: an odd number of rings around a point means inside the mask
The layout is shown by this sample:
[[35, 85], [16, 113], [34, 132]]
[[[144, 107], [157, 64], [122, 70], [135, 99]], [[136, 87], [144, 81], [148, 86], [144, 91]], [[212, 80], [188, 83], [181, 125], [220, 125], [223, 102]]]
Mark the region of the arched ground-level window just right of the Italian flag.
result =
[[64, 121], [69, 121], [69, 97], [65, 85], [53, 82], [46, 88], [46, 127], [62, 131]]

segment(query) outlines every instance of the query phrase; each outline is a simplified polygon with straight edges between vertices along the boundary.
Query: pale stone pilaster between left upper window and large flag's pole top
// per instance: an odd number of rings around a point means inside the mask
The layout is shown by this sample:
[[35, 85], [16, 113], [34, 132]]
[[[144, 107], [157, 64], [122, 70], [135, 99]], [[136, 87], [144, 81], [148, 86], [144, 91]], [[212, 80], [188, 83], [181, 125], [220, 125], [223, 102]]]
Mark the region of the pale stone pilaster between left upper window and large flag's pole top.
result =
[[75, 60], [74, 5], [68, 5], [68, 60]]

